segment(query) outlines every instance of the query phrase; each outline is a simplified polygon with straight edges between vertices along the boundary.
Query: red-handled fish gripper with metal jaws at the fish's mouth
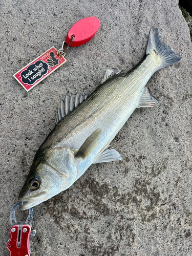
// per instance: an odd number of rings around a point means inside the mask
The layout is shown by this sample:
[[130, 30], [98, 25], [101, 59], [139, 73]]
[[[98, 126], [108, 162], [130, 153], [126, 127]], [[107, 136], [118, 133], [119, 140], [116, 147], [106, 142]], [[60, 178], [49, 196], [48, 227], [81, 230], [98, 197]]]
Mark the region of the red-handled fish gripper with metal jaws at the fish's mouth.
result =
[[7, 243], [7, 249], [10, 256], [25, 255], [30, 256], [29, 236], [35, 236], [36, 231], [31, 230], [31, 222], [33, 219], [33, 209], [29, 208], [29, 215], [25, 222], [17, 222], [15, 217], [15, 210], [18, 206], [23, 205], [24, 202], [18, 202], [11, 210], [10, 222], [10, 239]]

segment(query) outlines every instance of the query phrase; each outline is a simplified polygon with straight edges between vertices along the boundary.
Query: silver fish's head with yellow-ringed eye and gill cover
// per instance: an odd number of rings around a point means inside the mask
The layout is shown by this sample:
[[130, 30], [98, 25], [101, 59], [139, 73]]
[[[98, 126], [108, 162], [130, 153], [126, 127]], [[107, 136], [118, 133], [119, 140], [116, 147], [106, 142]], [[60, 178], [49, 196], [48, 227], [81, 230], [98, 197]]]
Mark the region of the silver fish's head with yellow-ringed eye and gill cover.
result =
[[[37, 152], [38, 153], [38, 152]], [[36, 206], [70, 187], [77, 177], [77, 164], [70, 148], [51, 148], [36, 154], [26, 182], [20, 191], [21, 209]]]

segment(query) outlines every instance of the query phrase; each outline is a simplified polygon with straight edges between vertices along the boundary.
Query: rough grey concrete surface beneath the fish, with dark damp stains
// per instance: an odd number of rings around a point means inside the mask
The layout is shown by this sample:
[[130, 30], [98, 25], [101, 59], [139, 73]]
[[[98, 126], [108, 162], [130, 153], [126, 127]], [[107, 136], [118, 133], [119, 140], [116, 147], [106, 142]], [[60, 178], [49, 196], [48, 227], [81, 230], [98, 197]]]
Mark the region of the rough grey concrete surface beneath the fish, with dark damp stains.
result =
[[[100, 29], [71, 48], [67, 63], [27, 93], [13, 78], [87, 16]], [[148, 33], [182, 55], [147, 88], [158, 99], [137, 109], [112, 142], [121, 162], [97, 164], [70, 187], [34, 207], [31, 256], [191, 255], [191, 74], [189, 29], [178, 1], [22, 1], [1, 6], [1, 255], [9, 255], [9, 215], [33, 157], [54, 127], [65, 93], [90, 93], [107, 68], [129, 70], [145, 54]], [[26, 216], [17, 211], [20, 220]]]

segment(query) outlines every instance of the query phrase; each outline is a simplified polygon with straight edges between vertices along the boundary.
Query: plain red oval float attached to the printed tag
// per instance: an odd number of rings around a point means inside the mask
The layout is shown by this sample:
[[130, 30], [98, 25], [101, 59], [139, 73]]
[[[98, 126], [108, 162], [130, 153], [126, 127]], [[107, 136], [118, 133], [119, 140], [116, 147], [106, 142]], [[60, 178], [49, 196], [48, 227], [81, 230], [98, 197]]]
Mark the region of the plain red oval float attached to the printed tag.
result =
[[69, 30], [66, 37], [66, 44], [69, 45], [71, 36], [74, 36], [70, 47], [86, 44], [95, 35], [100, 27], [99, 19], [96, 17], [87, 17], [78, 20]]

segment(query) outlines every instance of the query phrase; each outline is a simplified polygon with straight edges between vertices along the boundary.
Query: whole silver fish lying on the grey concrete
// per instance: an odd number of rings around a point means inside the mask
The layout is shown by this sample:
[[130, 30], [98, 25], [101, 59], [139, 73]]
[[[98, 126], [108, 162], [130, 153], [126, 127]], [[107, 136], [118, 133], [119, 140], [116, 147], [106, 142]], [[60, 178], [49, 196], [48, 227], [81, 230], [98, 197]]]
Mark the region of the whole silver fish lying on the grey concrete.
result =
[[37, 151], [19, 200], [28, 209], [69, 188], [93, 163], [121, 160], [109, 144], [136, 108], [157, 102], [145, 84], [181, 56], [152, 28], [146, 55], [129, 72], [107, 70], [91, 95], [61, 100], [56, 126]]

